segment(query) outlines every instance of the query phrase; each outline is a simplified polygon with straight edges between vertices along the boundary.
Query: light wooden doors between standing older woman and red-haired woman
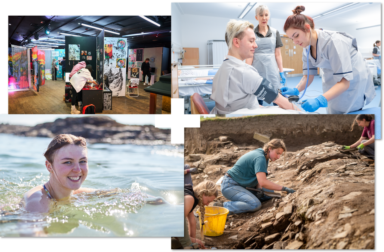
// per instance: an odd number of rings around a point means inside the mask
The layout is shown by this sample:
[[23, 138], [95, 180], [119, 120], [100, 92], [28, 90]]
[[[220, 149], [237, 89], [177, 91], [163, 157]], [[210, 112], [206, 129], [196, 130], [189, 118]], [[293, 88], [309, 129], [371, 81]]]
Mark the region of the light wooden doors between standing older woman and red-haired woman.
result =
[[281, 37], [283, 46], [280, 47], [281, 58], [283, 59], [283, 68], [292, 68], [295, 71], [291, 74], [303, 74], [303, 47], [293, 44], [293, 41], [288, 37]]

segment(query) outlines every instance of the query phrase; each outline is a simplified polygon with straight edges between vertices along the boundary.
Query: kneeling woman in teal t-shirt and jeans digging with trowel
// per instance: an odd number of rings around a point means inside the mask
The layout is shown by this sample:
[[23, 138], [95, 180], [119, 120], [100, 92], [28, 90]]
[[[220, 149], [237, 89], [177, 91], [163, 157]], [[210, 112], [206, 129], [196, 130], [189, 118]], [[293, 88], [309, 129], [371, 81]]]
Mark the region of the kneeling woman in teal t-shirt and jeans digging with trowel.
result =
[[224, 203], [218, 201], [214, 203], [214, 206], [227, 208], [228, 215], [256, 212], [262, 206], [261, 201], [271, 198], [264, 193], [248, 191], [245, 189], [246, 187], [269, 192], [276, 190], [294, 193], [295, 190], [266, 179], [268, 161], [278, 160], [283, 152], [286, 152], [285, 143], [283, 140], [275, 138], [265, 143], [263, 148], [258, 148], [240, 157], [235, 165], [225, 173], [220, 185], [222, 194], [230, 201]]

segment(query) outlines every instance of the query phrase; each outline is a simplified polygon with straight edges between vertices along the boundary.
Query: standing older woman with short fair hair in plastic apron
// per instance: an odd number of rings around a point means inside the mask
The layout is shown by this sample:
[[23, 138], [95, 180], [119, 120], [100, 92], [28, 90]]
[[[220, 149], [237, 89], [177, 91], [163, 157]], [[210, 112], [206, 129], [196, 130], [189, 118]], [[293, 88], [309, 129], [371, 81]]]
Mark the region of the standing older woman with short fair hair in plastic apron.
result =
[[[280, 88], [281, 84], [285, 84], [286, 81], [280, 51], [283, 42], [281, 42], [279, 31], [268, 25], [270, 18], [268, 7], [260, 5], [255, 12], [255, 18], [259, 21], [258, 26], [253, 30], [256, 36], [257, 48], [255, 48], [253, 57], [246, 59], [245, 63], [256, 68], [260, 76], [271, 82], [272, 86]], [[280, 77], [282, 81], [280, 81]], [[258, 102], [263, 105], [263, 100]]]

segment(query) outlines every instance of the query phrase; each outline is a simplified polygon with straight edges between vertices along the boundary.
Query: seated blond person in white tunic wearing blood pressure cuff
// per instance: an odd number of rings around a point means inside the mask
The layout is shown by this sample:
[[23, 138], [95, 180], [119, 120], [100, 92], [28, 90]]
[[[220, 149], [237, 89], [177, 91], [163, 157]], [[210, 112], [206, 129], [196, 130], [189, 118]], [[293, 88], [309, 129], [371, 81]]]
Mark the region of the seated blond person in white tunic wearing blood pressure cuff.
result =
[[243, 62], [253, 57], [257, 48], [252, 29], [253, 25], [248, 21], [231, 19], [227, 23], [225, 41], [228, 45], [228, 55], [212, 83], [211, 99], [215, 101], [216, 106], [210, 114], [229, 114], [239, 109], [254, 109], [260, 107], [257, 99], [265, 100], [266, 103], [275, 102], [283, 109], [295, 109], [295, 105], [279, 94], [277, 87], [261, 77], [253, 66]]

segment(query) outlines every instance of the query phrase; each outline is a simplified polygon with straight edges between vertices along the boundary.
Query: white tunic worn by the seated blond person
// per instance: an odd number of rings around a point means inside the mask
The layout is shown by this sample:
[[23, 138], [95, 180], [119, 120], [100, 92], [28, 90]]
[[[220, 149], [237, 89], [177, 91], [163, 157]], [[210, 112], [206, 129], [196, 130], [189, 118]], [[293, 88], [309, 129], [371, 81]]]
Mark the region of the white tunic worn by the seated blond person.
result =
[[216, 106], [210, 114], [229, 114], [239, 109], [260, 107], [254, 93], [263, 77], [253, 66], [233, 56], [226, 57], [228, 59], [224, 60], [212, 83], [211, 99]]

